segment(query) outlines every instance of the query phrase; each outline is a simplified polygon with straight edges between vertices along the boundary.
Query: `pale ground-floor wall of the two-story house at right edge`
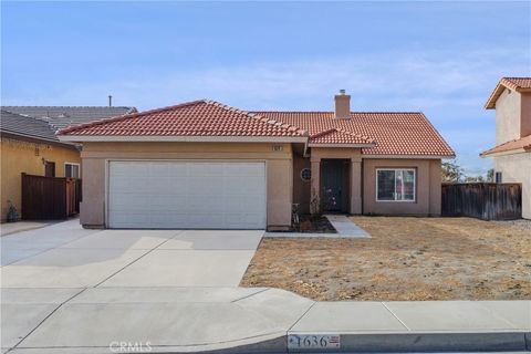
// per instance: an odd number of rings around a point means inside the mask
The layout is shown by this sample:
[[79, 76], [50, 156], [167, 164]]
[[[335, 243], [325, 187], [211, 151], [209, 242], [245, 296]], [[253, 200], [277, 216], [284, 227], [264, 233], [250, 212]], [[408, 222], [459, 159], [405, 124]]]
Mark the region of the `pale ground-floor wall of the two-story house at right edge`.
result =
[[522, 184], [522, 217], [531, 219], [531, 153], [496, 156], [494, 170], [503, 183]]

